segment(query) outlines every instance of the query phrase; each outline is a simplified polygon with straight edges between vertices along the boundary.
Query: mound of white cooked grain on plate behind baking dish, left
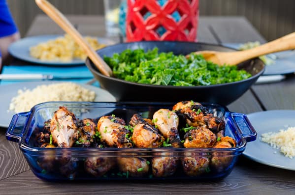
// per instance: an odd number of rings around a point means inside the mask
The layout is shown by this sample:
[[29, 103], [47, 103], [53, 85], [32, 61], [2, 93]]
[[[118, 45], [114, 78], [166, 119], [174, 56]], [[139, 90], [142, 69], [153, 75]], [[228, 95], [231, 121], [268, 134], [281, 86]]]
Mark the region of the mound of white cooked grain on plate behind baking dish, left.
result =
[[96, 94], [79, 84], [58, 83], [42, 84], [31, 89], [20, 89], [18, 95], [13, 97], [9, 110], [15, 112], [30, 111], [31, 108], [42, 102], [50, 101], [94, 101]]

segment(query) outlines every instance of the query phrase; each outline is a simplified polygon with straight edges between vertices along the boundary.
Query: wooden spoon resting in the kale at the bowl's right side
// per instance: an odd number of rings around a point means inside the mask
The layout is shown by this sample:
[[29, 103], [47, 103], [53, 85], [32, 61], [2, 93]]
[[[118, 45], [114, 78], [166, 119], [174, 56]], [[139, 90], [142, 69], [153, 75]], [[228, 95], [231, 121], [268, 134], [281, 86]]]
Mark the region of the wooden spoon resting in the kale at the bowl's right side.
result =
[[292, 49], [295, 49], [295, 32], [249, 50], [238, 52], [199, 51], [195, 54], [202, 54], [206, 60], [218, 65], [232, 66], [254, 57]]

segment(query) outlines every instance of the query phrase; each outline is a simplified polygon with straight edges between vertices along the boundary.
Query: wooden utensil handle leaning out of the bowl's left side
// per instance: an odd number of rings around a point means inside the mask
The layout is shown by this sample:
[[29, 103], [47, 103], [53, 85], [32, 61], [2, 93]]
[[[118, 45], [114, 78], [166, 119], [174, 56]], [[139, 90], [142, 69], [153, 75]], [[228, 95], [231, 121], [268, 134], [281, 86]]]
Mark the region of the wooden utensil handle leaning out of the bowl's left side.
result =
[[42, 9], [56, 24], [63, 28], [76, 43], [83, 48], [89, 58], [96, 65], [101, 74], [105, 76], [112, 75], [112, 69], [98, 56], [95, 50], [83, 39], [82, 35], [73, 27], [73, 25], [66, 19], [66, 17], [56, 9], [47, 0], [35, 0], [36, 4]]

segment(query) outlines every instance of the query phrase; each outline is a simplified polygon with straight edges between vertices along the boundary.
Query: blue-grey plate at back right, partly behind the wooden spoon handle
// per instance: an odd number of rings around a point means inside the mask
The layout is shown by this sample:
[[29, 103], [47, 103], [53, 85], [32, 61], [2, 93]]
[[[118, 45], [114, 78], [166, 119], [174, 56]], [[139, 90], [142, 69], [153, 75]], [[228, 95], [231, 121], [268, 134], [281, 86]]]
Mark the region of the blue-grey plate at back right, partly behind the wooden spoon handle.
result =
[[[238, 49], [242, 43], [224, 43], [223, 46]], [[266, 65], [263, 75], [284, 75], [295, 73], [295, 51], [273, 53], [274, 63]]]

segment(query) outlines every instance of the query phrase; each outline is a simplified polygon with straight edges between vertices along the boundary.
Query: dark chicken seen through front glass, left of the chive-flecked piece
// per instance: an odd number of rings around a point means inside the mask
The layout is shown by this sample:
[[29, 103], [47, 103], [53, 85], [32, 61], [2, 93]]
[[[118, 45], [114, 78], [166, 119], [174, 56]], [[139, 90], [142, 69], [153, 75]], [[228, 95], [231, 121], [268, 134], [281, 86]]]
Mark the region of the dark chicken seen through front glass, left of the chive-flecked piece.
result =
[[112, 157], [89, 157], [84, 162], [85, 170], [99, 177], [107, 173], [115, 166], [115, 161]]

